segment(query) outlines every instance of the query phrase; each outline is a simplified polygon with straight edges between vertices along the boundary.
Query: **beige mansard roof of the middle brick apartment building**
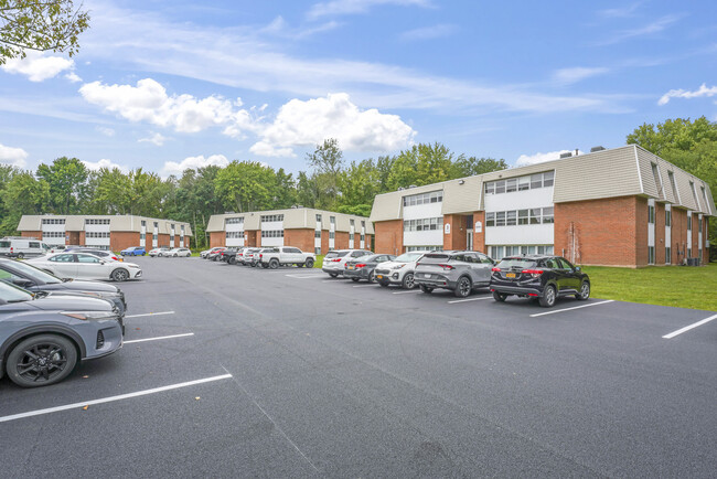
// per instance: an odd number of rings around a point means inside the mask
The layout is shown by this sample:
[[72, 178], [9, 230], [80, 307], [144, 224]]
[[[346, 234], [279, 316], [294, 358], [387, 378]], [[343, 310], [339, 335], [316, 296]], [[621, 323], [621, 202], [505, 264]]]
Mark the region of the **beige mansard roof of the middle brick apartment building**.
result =
[[260, 230], [261, 216], [270, 214], [283, 215], [283, 228], [311, 228], [317, 226], [317, 214], [321, 215], [321, 228], [330, 230], [330, 217], [336, 220], [335, 231], [350, 232], [351, 220], [354, 220], [354, 233], [361, 233], [361, 222], [366, 222], [366, 234], [374, 234], [373, 224], [365, 216], [355, 214], [335, 213], [333, 211], [315, 210], [312, 207], [290, 207], [286, 210], [250, 211], [245, 213], [213, 214], [206, 225], [207, 233], [225, 231], [224, 224], [228, 217], [243, 217], [244, 230]]

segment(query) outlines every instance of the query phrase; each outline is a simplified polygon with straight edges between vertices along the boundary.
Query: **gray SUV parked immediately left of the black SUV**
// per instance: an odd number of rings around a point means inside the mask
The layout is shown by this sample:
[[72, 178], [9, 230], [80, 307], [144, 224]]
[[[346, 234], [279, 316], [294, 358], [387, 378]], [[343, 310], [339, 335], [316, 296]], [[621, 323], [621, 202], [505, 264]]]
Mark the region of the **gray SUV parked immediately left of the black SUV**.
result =
[[465, 298], [474, 288], [491, 283], [493, 259], [479, 252], [436, 252], [426, 254], [416, 265], [415, 281], [424, 292], [450, 289]]

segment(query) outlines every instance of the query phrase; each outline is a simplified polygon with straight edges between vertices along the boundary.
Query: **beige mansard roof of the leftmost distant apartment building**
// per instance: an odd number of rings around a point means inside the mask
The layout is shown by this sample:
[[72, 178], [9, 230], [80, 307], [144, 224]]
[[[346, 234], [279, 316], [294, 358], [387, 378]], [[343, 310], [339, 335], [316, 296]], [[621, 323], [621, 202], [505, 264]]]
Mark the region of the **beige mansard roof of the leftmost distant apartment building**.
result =
[[109, 219], [109, 231], [110, 232], [141, 232], [142, 220], [147, 222], [147, 232], [152, 233], [153, 223], [157, 222], [159, 234], [170, 234], [171, 225], [174, 224], [174, 233], [179, 234], [180, 226], [184, 225], [184, 235], [193, 236], [192, 226], [189, 223], [173, 220], [160, 220], [156, 217], [147, 216], [136, 216], [131, 214], [118, 215], [118, 214], [24, 214], [20, 219], [18, 224], [18, 231], [42, 231], [42, 220], [43, 219], [64, 219], [65, 220], [65, 231], [84, 231], [85, 230], [85, 220], [106, 220]]

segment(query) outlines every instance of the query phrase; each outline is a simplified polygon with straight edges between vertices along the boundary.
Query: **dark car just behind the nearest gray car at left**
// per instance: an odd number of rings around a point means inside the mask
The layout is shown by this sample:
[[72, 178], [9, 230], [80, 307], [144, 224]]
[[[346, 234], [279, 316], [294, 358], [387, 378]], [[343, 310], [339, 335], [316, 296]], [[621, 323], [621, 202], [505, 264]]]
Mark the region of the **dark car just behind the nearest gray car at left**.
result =
[[127, 310], [125, 294], [117, 286], [99, 281], [62, 280], [28, 262], [0, 258], [0, 280], [11, 283], [30, 292], [94, 296], [113, 301], [122, 316]]

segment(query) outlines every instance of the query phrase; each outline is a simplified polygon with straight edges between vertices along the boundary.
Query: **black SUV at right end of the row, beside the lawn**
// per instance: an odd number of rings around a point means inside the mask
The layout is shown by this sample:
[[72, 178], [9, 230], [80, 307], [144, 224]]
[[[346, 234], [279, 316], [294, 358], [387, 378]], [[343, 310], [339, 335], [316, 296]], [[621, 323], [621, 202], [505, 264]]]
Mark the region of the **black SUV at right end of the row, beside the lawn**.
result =
[[561, 256], [509, 256], [493, 268], [491, 291], [496, 301], [511, 295], [538, 298], [549, 308], [559, 296], [590, 297], [590, 278]]

